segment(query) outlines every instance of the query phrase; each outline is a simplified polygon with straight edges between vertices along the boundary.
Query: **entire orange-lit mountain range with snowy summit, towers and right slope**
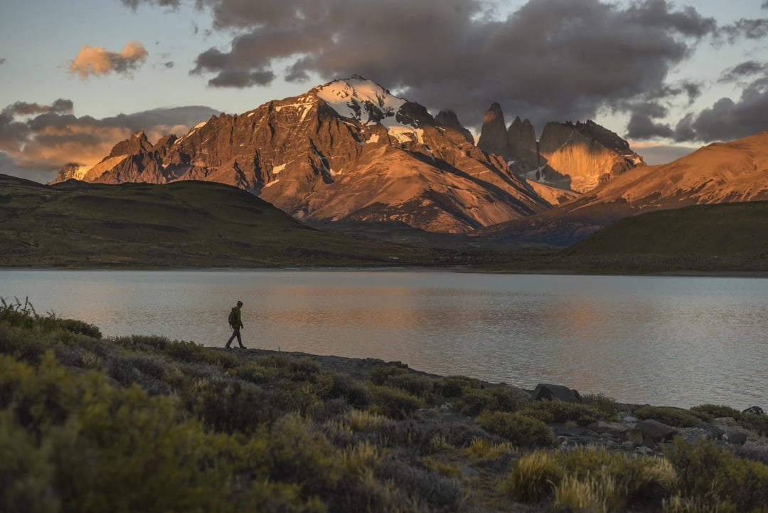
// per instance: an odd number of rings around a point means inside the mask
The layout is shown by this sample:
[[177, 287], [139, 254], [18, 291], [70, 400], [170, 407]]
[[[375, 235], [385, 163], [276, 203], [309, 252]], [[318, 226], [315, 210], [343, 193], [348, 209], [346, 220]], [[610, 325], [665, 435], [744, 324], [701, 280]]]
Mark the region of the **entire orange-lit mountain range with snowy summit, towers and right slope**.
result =
[[55, 183], [207, 180], [247, 190], [315, 226], [382, 227], [495, 243], [564, 246], [649, 210], [768, 199], [768, 134], [648, 166], [593, 121], [485, 113], [478, 144], [452, 111], [435, 117], [359, 76], [221, 114], [152, 144], [137, 132]]

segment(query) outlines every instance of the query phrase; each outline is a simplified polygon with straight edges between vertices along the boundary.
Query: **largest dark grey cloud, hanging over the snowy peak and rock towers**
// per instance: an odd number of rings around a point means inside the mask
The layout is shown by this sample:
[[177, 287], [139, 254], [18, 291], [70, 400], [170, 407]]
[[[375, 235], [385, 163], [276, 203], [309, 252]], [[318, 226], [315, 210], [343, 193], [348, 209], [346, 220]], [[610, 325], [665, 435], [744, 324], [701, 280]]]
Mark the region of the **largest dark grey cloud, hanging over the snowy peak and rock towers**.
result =
[[665, 0], [529, 0], [514, 12], [492, 0], [196, 5], [210, 13], [215, 31], [232, 35], [227, 47], [200, 53], [190, 71], [211, 87], [361, 74], [431, 111], [452, 109], [471, 127], [492, 101], [539, 129], [652, 101], [649, 91], [671, 91], [670, 71], [718, 31], [713, 18]]

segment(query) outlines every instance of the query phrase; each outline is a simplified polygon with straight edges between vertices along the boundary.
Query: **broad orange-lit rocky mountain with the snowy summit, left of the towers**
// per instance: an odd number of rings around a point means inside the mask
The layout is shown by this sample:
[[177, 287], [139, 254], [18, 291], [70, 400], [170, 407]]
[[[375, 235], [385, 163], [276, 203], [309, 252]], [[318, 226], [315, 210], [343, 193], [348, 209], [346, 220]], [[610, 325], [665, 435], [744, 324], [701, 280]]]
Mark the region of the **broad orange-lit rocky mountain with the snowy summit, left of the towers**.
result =
[[[551, 207], [502, 157], [475, 147], [454, 118], [445, 114], [439, 122], [421, 105], [353, 76], [211, 117], [154, 145], [134, 135], [85, 179], [211, 180], [249, 190], [300, 219], [401, 221], [444, 233]], [[110, 166], [110, 159], [119, 162]]]

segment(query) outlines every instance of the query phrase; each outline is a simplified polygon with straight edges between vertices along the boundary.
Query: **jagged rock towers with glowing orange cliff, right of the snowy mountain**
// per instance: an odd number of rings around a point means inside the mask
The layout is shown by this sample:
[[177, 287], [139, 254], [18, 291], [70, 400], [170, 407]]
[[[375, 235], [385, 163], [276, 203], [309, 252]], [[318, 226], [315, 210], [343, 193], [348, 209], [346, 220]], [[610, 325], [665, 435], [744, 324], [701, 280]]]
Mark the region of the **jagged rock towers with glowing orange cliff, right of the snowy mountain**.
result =
[[578, 193], [645, 164], [627, 141], [592, 121], [548, 123], [536, 141], [528, 119], [505, 127], [497, 103], [485, 112], [478, 146], [504, 157], [518, 177]]

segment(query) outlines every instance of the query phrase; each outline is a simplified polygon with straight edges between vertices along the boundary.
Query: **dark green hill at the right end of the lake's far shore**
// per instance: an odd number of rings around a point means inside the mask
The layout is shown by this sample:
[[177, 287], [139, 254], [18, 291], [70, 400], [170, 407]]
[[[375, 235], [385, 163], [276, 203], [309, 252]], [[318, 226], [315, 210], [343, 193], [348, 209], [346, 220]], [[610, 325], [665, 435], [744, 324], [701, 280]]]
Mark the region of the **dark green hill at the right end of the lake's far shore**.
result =
[[573, 267], [768, 271], [768, 202], [696, 205], [626, 217], [568, 247]]

